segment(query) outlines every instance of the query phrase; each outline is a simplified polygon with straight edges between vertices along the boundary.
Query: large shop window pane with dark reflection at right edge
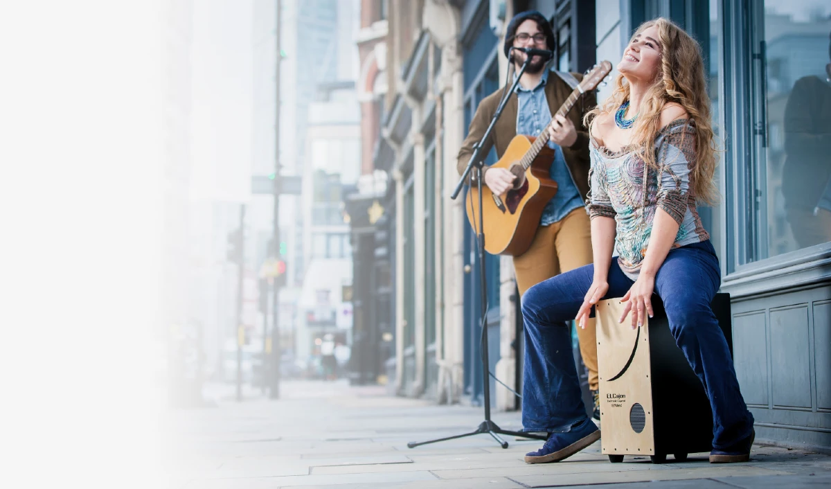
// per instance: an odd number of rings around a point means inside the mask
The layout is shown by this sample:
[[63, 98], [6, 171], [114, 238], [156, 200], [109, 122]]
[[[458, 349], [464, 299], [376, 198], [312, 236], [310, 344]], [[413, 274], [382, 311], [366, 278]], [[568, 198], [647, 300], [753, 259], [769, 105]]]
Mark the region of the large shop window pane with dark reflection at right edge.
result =
[[765, 2], [768, 256], [831, 241], [829, 33], [827, 2]]

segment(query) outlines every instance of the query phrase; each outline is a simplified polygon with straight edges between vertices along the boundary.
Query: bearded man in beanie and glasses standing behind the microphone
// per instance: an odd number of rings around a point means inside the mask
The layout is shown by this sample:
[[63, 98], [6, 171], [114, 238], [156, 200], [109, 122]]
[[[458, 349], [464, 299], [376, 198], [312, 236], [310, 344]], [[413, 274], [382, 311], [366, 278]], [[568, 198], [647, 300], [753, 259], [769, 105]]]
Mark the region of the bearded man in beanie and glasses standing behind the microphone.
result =
[[[511, 47], [531, 47], [554, 50], [556, 42], [548, 21], [540, 12], [522, 12], [515, 16], [505, 32], [504, 54], [514, 63], [519, 72], [528, 57], [524, 52], [510, 50]], [[553, 64], [553, 63], [551, 63]], [[581, 75], [574, 73], [578, 80]], [[549, 69], [549, 62], [534, 56], [526, 68], [519, 86], [504, 108], [502, 116], [494, 127], [489, 141], [484, 141], [484, 154], [490, 147], [496, 147], [501, 158], [509, 142], [517, 134], [539, 136], [548, 126], [552, 114], [563, 105], [572, 92], [572, 86], [559, 74]], [[485, 97], [476, 109], [470, 123], [468, 136], [459, 151], [457, 166], [460, 174], [470, 160], [473, 146], [484, 136], [489, 121], [494, 115], [503, 89]], [[592, 91], [583, 96], [580, 107], [588, 111], [597, 104]], [[551, 178], [558, 184], [557, 194], [543, 210], [542, 219], [530, 248], [514, 256], [514, 271], [520, 296], [533, 285], [550, 279], [554, 275], [577, 269], [592, 263], [592, 239], [588, 215], [584, 202], [588, 193], [588, 132], [583, 127], [583, 111], [574, 110], [567, 117], [557, 116], [549, 130], [551, 141], [548, 146], [555, 151], [551, 163]], [[515, 176], [504, 168], [486, 168], [484, 184], [502, 195], [514, 186]], [[578, 328], [580, 353], [588, 368], [589, 388], [594, 397], [594, 420], [599, 422], [597, 398], [597, 341], [594, 319], [586, 328]], [[525, 368], [530, 368], [526, 363]], [[546, 379], [543, 379], [543, 382]], [[525, 386], [525, 389], [545, 386]]]

